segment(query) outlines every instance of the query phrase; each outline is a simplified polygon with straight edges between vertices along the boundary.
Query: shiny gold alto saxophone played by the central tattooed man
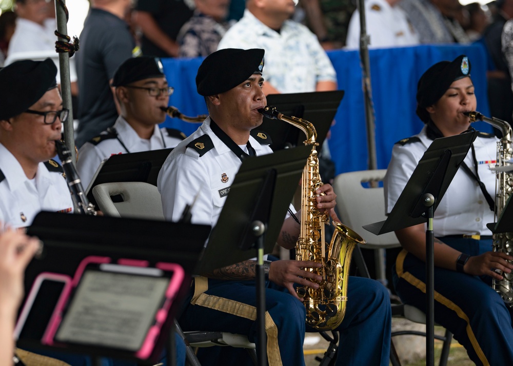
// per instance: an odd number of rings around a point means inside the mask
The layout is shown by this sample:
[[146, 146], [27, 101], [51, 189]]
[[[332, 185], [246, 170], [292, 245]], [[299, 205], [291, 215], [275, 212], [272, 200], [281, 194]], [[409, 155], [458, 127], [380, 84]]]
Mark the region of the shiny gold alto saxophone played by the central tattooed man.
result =
[[337, 328], [346, 313], [347, 279], [351, 254], [357, 243], [365, 240], [340, 222], [333, 221], [335, 232], [329, 245], [324, 241], [324, 228], [329, 225], [329, 213], [315, 207], [323, 185], [319, 174], [319, 159], [315, 142], [317, 132], [313, 125], [304, 119], [287, 117], [276, 108], [266, 106], [259, 110], [267, 118], [279, 119], [301, 129], [307, 136], [305, 145], [312, 147], [303, 170], [301, 196], [301, 234], [295, 247], [297, 260], [313, 260], [321, 263], [320, 268], [305, 269], [322, 277], [311, 280], [319, 284], [319, 289], [300, 286], [296, 289], [306, 307], [306, 323], [317, 330], [327, 331]]

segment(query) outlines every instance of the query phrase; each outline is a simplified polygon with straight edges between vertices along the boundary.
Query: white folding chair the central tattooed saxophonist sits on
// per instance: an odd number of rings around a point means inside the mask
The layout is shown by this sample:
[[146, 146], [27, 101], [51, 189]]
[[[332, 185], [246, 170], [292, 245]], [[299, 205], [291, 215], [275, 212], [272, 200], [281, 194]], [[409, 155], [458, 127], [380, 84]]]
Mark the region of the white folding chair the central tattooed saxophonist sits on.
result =
[[[146, 182], [103, 183], [92, 189], [98, 208], [106, 216], [147, 218], [164, 220], [162, 199], [159, 190]], [[178, 322], [174, 322], [175, 331], [187, 345], [187, 361], [192, 366], [201, 366], [190, 347], [213, 347], [228, 345], [244, 348], [253, 363], [257, 363], [255, 344], [247, 336], [227, 332], [192, 331], [183, 332]]]

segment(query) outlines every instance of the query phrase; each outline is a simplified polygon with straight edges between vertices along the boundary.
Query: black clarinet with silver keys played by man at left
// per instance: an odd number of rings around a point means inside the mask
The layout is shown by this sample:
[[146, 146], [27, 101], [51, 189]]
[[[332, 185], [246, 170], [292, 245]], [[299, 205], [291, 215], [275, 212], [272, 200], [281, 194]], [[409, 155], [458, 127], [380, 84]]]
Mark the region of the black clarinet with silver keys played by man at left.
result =
[[66, 174], [66, 181], [68, 182], [71, 198], [73, 198], [73, 202], [76, 207], [76, 212], [85, 215], [96, 215], [96, 210], [94, 209], [93, 204], [91, 204], [87, 199], [84, 189], [82, 188], [80, 177], [73, 165], [71, 151], [63, 141], [56, 140], [55, 147], [57, 148], [57, 154], [61, 159], [64, 173]]

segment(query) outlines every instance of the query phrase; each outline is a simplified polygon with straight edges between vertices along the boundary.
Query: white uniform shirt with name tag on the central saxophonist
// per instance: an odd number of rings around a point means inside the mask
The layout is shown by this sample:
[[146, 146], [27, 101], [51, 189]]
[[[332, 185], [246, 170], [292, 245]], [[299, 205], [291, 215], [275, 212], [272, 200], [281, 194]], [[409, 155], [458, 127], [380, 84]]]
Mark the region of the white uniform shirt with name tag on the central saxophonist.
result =
[[[200, 156], [198, 151], [187, 148], [196, 138], [207, 134], [213, 148]], [[272, 153], [267, 145], [261, 145], [252, 136], [249, 143], [257, 156]], [[225, 204], [227, 192], [241, 166], [236, 156], [210, 128], [208, 117], [198, 130], [182, 141], [167, 157], [159, 177], [157, 188], [162, 195], [166, 220], [178, 221], [186, 205], [192, 204], [191, 222], [215, 226]]]

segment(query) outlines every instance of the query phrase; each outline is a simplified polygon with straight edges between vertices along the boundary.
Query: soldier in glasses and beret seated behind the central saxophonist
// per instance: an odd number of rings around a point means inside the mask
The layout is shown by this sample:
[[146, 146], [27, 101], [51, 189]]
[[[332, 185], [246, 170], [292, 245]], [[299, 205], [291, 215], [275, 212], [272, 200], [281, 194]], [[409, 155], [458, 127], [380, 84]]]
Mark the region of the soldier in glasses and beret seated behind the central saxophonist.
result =
[[173, 93], [160, 58], [127, 59], [114, 73], [112, 86], [121, 115], [113, 127], [85, 143], [78, 151], [77, 170], [87, 187], [102, 160], [113, 154], [174, 148], [185, 136], [181, 131], [159, 128], [166, 119]]

